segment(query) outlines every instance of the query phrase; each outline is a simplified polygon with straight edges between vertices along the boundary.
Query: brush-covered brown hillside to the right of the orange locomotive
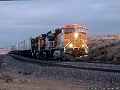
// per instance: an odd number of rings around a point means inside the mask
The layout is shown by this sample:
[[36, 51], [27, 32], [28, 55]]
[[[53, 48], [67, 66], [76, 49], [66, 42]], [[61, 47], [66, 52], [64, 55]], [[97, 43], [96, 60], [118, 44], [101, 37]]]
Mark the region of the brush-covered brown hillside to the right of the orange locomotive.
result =
[[90, 36], [86, 61], [120, 62], [120, 34]]

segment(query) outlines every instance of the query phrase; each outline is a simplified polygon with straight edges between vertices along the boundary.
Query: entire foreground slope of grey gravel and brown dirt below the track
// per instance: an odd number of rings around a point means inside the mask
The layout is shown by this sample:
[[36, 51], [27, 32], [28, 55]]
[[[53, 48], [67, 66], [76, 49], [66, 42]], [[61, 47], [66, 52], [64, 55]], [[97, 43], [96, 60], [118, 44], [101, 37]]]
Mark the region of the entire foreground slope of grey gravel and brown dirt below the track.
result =
[[8, 55], [4, 56], [4, 64], [0, 67], [2, 90], [86, 90], [86, 88], [119, 90], [120, 74], [35, 64]]

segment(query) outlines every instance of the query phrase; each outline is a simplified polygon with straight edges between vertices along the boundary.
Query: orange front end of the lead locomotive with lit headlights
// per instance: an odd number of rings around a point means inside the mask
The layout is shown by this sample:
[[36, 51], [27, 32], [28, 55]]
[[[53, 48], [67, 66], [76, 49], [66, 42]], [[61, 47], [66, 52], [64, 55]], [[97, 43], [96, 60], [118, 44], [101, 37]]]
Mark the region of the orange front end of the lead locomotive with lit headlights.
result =
[[79, 25], [67, 25], [64, 31], [64, 51], [74, 57], [84, 56], [88, 53], [87, 28]]

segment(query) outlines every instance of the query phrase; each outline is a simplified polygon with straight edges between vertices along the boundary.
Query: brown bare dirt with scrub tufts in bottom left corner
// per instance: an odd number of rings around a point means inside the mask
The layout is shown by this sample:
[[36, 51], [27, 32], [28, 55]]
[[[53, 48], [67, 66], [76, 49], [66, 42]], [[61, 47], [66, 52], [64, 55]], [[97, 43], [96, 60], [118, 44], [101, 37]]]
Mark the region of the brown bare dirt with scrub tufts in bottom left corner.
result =
[[77, 85], [45, 82], [0, 71], [0, 90], [85, 90]]

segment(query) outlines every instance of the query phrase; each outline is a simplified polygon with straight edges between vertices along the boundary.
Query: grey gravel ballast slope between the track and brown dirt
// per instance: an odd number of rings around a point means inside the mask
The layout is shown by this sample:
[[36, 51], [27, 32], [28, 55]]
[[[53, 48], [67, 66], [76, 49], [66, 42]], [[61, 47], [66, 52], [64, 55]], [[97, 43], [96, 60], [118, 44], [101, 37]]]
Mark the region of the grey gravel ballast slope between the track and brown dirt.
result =
[[[16, 60], [11, 56], [5, 56], [4, 67], [28, 78], [80, 85], [87, 88], [114, 88], [118, 90], [120, 88], [119, 73], [43, 66]], [[112, 68], [116, 68], [116, 66], [112, 66]]]

